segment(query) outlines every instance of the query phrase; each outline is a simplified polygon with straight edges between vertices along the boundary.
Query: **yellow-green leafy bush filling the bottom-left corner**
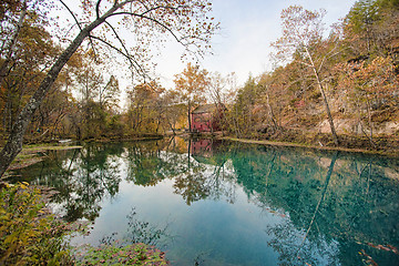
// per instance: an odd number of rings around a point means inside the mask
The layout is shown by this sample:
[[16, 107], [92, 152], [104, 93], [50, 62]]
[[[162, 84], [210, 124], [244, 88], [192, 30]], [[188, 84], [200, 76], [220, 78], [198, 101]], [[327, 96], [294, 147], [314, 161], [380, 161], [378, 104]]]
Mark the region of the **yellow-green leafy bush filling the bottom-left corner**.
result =
[[63, 241], [70, 227], [45, 209], [43, 196], [28, 183], [0, 191], [0, 264], [70, 265]]

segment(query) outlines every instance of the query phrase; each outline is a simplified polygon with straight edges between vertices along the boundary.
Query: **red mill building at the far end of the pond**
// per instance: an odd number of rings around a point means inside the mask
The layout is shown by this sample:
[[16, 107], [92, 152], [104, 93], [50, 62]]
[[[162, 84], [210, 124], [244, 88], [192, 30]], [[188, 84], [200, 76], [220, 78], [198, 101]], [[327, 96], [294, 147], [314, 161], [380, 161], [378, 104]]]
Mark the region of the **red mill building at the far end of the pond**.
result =
[[205, 104], [194, 109], [191, 115], [192, 132], [219, 131], [226, 108], [223, 104]]

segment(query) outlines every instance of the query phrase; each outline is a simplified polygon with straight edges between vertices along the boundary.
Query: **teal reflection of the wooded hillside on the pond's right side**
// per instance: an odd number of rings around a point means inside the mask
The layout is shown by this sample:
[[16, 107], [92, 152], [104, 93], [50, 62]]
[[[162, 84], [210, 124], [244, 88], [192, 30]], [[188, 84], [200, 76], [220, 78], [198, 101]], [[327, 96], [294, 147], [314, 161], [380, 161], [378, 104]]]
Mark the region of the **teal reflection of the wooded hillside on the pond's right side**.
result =
[[266, 228], [282, 265], [357, 265], [362, 249], [379, 265], [399, 262], [388, 250], [399, 239], [395, 160], [273, 147], [237, 151], [237, 182], [254, 204], [282, 217]]

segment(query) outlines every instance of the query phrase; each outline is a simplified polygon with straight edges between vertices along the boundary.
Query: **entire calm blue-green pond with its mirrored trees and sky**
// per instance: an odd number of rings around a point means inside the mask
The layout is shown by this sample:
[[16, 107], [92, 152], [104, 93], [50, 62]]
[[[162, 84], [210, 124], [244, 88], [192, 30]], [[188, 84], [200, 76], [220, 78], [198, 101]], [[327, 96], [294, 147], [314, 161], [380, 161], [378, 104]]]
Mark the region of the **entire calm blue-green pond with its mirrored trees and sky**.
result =
[[94, 222], [75, 244], [144, 242], [172, 265], [399, 265], [397, 158], [180, 139], [47, 155], [17, 174]]

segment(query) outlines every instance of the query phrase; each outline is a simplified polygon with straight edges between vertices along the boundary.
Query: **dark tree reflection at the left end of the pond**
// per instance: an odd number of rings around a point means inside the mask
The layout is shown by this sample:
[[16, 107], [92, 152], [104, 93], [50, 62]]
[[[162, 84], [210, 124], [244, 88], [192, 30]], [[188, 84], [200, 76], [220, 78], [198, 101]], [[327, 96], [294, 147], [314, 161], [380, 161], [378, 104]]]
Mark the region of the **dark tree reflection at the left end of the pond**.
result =
[[[19, 174], [30, 183], [53, 187], [53, 203], [69, 222], [94, 221], [104, 197], [114, 197], [121, 182], [122, 144], [89, 144], [73, 151], [49, 151], [49, 160]], [[72, 155], [71, 155], [72, 154]]]

